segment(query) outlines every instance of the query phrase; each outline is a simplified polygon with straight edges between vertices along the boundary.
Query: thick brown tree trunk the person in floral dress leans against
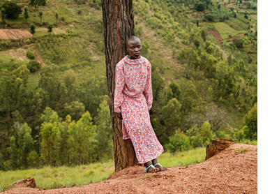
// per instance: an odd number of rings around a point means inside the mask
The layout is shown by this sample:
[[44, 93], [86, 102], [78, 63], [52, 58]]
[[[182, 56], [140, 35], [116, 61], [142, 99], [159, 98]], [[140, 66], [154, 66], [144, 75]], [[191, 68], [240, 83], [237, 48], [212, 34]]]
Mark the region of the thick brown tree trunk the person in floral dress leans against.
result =
[[114, 142], [115, 172], [137, 165], [130, 140], [123, 140], [121, 120], [114, 114], [115, 66], [127, 54], [126, 40], [134, 35], [133, 0], [102, 0], [107, 87]]

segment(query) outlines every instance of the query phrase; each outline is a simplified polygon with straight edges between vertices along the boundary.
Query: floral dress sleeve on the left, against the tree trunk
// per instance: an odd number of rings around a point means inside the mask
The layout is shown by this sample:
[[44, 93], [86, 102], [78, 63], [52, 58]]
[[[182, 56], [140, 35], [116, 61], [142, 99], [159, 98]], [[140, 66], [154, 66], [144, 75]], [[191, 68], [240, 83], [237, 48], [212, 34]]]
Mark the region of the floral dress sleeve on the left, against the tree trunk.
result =
[[116, 64], [115, 68], [115, 89], [114, 89], [114, 112], [121, 112], [123, 103], [123, 88], [125, 80], [123, 75], [123, 64]]

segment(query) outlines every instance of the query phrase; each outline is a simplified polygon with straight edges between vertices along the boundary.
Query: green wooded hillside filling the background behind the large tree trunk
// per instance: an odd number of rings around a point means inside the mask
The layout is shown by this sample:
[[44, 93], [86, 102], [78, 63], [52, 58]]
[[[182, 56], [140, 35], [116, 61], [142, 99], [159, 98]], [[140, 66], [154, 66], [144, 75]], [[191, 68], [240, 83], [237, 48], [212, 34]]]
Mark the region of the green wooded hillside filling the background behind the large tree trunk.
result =
[[[29, 0], [14, 2], [22, 13], [1, 29], [33, 23], [36, 32], [0, 40], [0, 169], [112, 158], [101, 1], [47, 0], [42, 20]], [[180, 140], [190, 149], [257, 138], [257, 3], [133, 3], [152, 66], [151, 123], [165, 150]]]

